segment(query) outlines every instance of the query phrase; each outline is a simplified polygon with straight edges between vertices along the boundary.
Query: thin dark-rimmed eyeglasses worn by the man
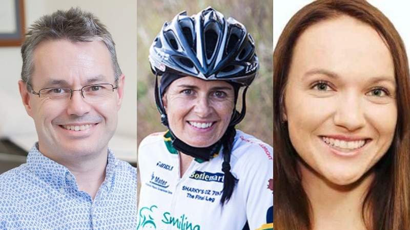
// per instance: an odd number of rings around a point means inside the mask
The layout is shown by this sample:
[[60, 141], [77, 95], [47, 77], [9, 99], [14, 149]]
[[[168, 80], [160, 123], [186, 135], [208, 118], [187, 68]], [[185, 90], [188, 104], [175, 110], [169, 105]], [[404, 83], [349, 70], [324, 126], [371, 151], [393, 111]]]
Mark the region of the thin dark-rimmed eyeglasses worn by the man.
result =
[[87, 85], [81, 89], [71, 89], [71, 88], [43, 88], [36, 93], [33, 88], [31, 88], [31, 93], [38, 95], [39, 98], [49, 98], [52, 100], [71, 100], [73, 97], [73, 91], [81, 91], [81, 95], [87, 102], [97, 102], [110, 99], [113, 95], [114, 89], [118, 88], [112, 84], [94, 84]]

